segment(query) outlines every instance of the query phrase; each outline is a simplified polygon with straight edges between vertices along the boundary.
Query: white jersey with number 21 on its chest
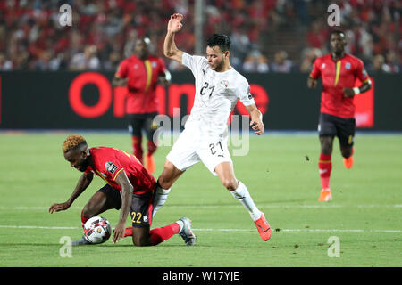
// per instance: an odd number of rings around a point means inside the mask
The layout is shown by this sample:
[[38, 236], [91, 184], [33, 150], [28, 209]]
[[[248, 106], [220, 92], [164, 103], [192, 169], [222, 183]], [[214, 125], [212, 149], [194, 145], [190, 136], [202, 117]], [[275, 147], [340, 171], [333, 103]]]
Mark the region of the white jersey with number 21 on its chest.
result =
[[197, 129], [201, 138], [222, 139], [238, 100], [245, 106], [255, 103], [247, 79], [233, 68], [214, 71], [203, 56], [183, 53], [182, 64], [191, 69], [196, 79], [194, 105], [185, 128]]

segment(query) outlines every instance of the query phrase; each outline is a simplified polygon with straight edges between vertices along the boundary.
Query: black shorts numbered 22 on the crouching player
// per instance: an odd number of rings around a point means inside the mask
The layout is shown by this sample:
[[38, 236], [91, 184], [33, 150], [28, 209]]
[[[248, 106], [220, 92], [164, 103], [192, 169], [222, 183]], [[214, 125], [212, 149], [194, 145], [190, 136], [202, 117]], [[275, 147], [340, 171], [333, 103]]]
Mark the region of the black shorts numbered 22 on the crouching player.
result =
[[[121, 208], [121, 191], [114, 189], [111, 185], [106, 184], [99, 191], [105, 193], [113, 208], [119, 210]], [[149, 191], [145, 194], [132, 194], [130, 216], [132, 226], [141, 228], [151, 226], [152, 212], [154, 211], [155, 191]]]

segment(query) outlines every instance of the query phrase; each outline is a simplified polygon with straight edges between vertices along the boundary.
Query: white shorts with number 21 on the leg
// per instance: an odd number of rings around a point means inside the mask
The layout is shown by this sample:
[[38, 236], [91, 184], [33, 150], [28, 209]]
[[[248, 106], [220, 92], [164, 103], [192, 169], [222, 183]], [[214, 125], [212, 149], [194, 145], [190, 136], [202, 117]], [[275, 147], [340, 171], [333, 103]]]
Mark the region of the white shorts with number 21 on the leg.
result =
[[227, 139], [205, 139], [197, 132], [185, 129], [174, 142], [172, 150], [166, 156], [172, 164], [181, 171], [187, 170], [197, 162], [202, 161], [206, 168], [215, 176], [215, 167], [222, 162], [230, 162]]

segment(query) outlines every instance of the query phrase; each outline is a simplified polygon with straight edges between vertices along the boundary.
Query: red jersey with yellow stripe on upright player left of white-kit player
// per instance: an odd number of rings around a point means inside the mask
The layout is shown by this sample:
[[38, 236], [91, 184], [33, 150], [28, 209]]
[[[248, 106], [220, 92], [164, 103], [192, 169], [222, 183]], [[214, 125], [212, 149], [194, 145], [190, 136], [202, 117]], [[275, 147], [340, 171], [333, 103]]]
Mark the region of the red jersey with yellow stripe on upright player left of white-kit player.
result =
[[147, 60], [141, 61], [132, 55], [121, 61], [114, 76], [128, 78], [127, 114], [157, 111], [156, 85], [158, 77], [164, 76], [165, 70], [163, 60], [155, 56], [148, 56]]

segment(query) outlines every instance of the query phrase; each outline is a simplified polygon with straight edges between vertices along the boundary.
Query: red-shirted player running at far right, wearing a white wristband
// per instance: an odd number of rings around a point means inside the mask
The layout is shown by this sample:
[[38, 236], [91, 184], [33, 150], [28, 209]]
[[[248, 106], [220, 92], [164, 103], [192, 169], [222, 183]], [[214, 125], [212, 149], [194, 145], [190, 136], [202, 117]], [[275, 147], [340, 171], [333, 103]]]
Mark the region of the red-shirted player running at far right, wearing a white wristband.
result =
[[[315, 88], [322, 77], [321, 110], [318, 132], [321, 154], [318, 161], [322, 191], [319, 201], [332, 199], [330, 189], [331, 153], [335, 136], [339, 138], [340, 152], [345, 167], [353, 166], [353, 142], [355, 137], [354, 97], [371, 88], [370, 77], [364, 69], [363, 61], [345, 53], [345, 34], [334, 30], [330, 35], [331, 53], [318, 57], [307, 79], [307, 86]], [[356, 78], [363, 84], [354, 87]]]

